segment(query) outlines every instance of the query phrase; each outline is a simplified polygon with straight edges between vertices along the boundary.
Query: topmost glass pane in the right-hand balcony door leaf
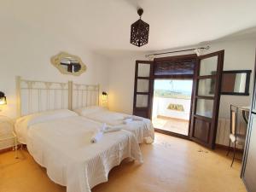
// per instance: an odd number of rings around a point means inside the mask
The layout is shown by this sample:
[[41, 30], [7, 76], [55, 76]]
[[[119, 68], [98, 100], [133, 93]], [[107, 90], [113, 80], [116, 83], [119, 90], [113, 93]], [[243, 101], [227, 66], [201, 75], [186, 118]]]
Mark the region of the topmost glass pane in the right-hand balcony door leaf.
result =
[[199, 75], [214, 75], [218, 66], [218, 56], [202, 59], [200, 64]]

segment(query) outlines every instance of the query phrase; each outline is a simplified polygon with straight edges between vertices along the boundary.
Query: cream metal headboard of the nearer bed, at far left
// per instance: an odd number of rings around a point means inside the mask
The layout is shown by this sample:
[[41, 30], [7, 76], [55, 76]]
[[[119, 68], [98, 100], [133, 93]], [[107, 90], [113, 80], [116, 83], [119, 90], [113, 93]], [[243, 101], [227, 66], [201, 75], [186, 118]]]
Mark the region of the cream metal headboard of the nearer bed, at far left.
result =
[[45, 82], [16, 77], [17, 115], [71, 109], [72, 82]]

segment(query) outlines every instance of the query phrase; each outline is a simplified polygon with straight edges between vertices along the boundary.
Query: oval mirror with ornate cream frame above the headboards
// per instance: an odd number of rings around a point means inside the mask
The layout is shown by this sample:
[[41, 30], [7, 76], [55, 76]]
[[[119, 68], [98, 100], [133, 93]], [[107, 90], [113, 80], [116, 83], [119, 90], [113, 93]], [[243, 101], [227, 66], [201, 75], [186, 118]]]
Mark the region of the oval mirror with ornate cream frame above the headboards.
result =
[[63, 74], [79, 76], [86, 70], [86, 66], [78, 56], [65, 52], [53, 56], [50, 61]]

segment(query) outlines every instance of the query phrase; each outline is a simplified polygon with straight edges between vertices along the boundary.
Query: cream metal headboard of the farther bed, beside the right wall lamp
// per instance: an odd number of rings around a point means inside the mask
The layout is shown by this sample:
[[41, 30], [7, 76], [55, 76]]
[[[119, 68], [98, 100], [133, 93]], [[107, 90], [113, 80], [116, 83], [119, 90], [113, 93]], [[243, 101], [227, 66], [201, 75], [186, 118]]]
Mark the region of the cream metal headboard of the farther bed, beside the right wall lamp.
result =
[[99, 105], [99, 84], [72, 84], [72, 109]]

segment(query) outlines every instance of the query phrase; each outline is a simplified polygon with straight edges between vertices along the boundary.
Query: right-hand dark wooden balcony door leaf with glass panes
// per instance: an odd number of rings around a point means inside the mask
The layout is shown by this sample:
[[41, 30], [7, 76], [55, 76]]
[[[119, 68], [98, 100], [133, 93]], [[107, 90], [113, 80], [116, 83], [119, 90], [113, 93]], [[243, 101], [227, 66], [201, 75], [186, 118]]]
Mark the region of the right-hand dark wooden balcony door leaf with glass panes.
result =
[[190, 138], [215, 147], [224, 50], [197, 59]]

